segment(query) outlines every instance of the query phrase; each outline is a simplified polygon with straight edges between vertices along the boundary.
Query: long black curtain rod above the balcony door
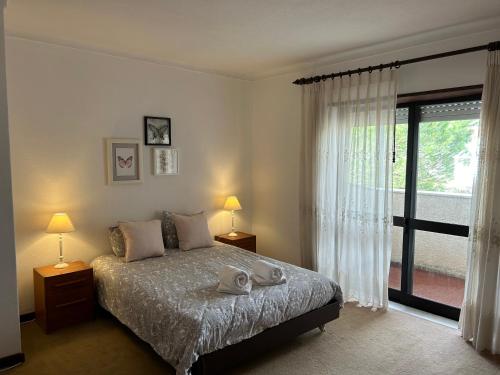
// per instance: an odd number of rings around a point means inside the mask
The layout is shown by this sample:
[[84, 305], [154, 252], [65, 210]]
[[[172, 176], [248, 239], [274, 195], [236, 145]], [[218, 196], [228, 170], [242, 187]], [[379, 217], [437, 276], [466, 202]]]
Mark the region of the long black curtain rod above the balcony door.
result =
[[488, 51], [500, 50], [500, 41], [491, 42], [488, 44], [483, 44], [482, 46], [477, 46], [477, 47], [470, 47], [470, 48], [458, 49], [456, 51], [448, 51], [448, 52], [443, 52], [443, 53], [436, 53], [434, 55], [416, 57], [414, 59], [401, 60], [401, 61], [396, 60], [396, 61], [391, 62], [391, 63], [369, 66], [366, 68], [346, 70], [343, 72], [324, 74], [321, 76], [314, 76], [314, 77], [308, 77], [308, 78], [299, 78], [299, 79], [296, 79], [295, 81], [293, 81], [293, 84], [295, 84], [295, 85], [310, 85], [311, 83], [314, 83], [314, 82], [325, 81], [327, 79], [333, 79], [335, 77], [342, 77], [344, 75], [361, 74], [363, 72], [372, 72], [373, 70], [377, 70], [377, 69], [378, 70], [382, 70], [382, 69], [386, 69], [386, 68], [398, 69], [402, 65], [414, 64], [414, 63], [421, 62], [421, 61], [442, 59], [443, 57], [462, 55], [464, 53], [471, 53], [471, 52], [484, 51], [484, 50], [488, 50]]

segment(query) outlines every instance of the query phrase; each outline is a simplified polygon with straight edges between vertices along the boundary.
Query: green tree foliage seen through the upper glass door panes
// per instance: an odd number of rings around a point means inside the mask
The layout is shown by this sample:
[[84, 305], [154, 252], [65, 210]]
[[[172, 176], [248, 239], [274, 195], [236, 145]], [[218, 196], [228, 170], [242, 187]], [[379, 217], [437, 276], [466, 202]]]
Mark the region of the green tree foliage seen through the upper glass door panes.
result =
[[[453, 179], [455, 158], [470, 162], [467, 145], [472, 137], [472, 124], [477, 120], [423, 122], [419, 127], [418, 190], [446, 191]], [[404, 189], [406, 175], [406, 142], [408, 127], [396, 126], [396, 163], [393, 186]]]

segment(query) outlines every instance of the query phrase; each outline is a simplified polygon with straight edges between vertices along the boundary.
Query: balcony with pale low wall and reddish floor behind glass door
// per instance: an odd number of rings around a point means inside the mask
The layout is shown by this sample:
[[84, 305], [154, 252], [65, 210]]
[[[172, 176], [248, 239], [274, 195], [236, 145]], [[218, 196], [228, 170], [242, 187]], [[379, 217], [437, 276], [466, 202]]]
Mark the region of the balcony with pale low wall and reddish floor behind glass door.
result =
[[[417, 217], [423, 220], [467, 225], [470, 194], [417, 193]], [[404, 192], [394, 191], [395, 215], [401, 215]], [[400, 289], [403, 228], [394, 227], [389, 287]], [[413, 295], [460, 307], [464, 295], [467, 263], [465, 237], [415, 232]]]

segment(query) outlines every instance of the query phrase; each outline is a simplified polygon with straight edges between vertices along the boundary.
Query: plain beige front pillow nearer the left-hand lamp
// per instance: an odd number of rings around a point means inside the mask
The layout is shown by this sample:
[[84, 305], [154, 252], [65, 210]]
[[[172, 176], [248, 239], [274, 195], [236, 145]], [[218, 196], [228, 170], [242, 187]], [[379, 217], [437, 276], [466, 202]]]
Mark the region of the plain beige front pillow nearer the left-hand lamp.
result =
[[118, 225], [125, 239], [125, 261], [162, 256], [161, 221], [128, 221]]

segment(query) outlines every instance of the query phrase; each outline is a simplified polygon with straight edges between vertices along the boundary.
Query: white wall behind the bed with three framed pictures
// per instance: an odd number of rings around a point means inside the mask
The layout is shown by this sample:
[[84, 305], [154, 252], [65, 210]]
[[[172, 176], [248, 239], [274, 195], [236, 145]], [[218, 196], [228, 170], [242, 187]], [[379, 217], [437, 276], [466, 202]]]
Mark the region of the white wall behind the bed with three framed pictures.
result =
[[[76, 226], [69, 260], [110, 252], [107, 227], [162, 209], [206, 210], [212, 233], [228, 232], [228, 194], [251, 229], [248, 82], [14, 37], [7, 72], [21, 313], [33, 311], [33, 267], [57, 261], [53, 212]], [[143, 184], [106, 185], [104, 138], [142, 140], [144, 115], [172, 118], [180, 175], [154, 177], [145, 147]]]

